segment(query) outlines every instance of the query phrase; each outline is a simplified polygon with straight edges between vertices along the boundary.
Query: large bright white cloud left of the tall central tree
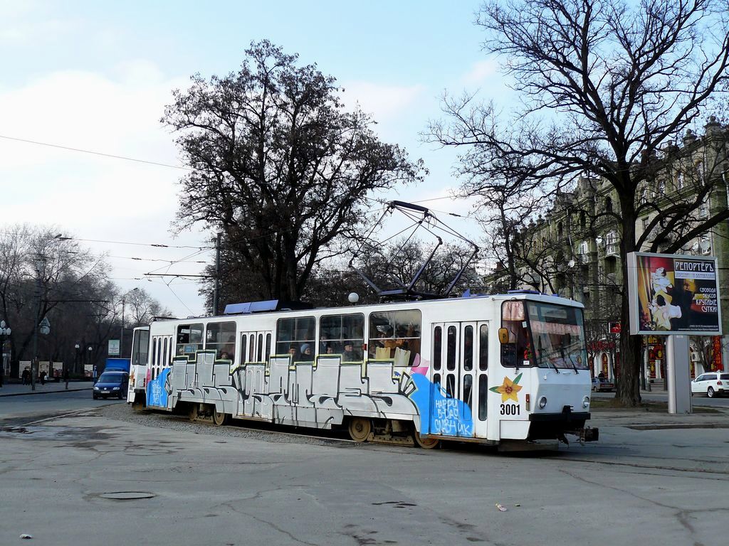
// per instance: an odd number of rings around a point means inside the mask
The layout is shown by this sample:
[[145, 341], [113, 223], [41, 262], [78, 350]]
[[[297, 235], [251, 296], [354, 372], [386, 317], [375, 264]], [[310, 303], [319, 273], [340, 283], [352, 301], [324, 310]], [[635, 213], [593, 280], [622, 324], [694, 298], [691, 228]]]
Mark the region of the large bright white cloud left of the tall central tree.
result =
[[[87, 71], [56, 71], [0, 90], [0, 135], [179, 165], [174, 137], [160, 125], [171, 90], [187, 79], [168, 79], [147, 60], [111, 67], [102, 76]], [[87, 240], [168, 245], [207, 245], [206, 234], [169, 231], [177, 210], [178, 181], [184, 170], [101, 157], [0, 138], [2, 223], [55, 225], [64, 234]], [[141, 277], [160, 262], [128, 258], [182, 258], [194, 250], [82, 242], [109, 253], [112, 278]], [[209, 253], [195, 260], [208, 259]], [[176, 264], [171, 272], [199, 273], [202, 264]], [[191, 314], [162, 279], [117, 281], [137, 285], [179, 316]], [[197, 285], [175, 281], [175, 293], [202, 312]], [[188, 282], [188, 281], [184, 281]]]

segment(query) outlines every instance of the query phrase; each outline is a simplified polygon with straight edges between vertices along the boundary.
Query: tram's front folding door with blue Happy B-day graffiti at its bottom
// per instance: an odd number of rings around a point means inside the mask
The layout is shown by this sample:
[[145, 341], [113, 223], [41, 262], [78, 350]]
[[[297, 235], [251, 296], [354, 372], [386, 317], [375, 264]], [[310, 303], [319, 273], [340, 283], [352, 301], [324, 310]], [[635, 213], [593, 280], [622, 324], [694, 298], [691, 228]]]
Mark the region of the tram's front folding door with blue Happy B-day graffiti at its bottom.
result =
[[437, 323], [432, 328], [430, 432], [486, 437], [488, 323]]

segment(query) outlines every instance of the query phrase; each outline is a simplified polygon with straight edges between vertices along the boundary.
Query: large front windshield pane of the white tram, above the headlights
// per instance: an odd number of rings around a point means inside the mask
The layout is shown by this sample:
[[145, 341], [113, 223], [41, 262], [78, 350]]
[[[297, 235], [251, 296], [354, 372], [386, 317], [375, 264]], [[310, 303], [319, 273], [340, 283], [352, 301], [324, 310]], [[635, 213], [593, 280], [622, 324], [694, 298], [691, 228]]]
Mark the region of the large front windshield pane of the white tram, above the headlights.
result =
[[527, 301], [534, 361], [539, 368], [588, 368], [582, 309]]

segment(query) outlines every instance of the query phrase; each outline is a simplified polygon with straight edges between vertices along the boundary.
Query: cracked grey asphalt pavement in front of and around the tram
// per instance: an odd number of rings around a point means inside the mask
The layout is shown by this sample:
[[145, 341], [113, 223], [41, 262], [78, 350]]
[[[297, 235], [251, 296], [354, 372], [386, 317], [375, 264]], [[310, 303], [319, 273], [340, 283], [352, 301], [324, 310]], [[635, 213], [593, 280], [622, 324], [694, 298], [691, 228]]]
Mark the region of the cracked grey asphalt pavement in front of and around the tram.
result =
[[[3, 402], [24, 412], [22, 398]], [[1, 406], [0, 422], [13, 425], [0, 431], [1, 545], [21, 533], [54, 546], [726, 543], [725, 411], [599, 411], [597, 444], [505, 456], [214, 428], [101, 404], [29, 427]]]

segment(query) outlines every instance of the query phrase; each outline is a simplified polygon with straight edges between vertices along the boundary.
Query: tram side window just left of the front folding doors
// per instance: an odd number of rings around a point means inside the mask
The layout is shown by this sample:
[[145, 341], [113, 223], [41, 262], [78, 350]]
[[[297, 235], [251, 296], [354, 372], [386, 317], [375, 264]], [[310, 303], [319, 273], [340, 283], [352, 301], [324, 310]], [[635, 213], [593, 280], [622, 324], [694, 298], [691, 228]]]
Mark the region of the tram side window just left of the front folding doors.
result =
[[421, 312], [386, 311], [370, 314], [370, 358], [393, 359], [395, 365], [413, 365], [420, 354]]

